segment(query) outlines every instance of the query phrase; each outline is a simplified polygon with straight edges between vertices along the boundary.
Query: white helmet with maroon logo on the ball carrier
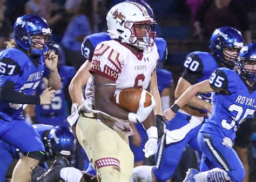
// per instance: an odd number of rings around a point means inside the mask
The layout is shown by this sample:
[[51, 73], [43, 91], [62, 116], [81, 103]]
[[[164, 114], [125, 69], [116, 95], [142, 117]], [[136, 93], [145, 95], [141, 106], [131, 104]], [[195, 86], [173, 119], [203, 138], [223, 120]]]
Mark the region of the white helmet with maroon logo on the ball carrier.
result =
[[[122, 2], [113, 6], [106, 16], [106, 21], [107, 32], [112, 39], [119, 39], [141, 50], [154, 45], [156, 32], [151, 29], [154, 21], [139, 3]], [[143, 26], [146, 33], [136, 32], [136, 26]]]

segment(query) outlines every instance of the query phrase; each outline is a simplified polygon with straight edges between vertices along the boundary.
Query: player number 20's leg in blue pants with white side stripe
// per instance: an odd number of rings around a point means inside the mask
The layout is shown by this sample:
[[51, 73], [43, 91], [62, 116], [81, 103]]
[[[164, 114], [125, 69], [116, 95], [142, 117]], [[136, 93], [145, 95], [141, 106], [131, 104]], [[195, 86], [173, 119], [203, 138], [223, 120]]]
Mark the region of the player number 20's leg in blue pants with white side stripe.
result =
[[[168, 124], [167, 129], [170, 131], [180, 129], [188, 124], [190, 116], [183, 113], [177, 113]], [[166, 145], [165, 136], [160, 140], [160, 146], [157, 153], [157, 165], [153, 167], [153, 174], [151, 175], [151, 166], [139, 166], [134, 168], [132, 178], [134, 181], [166, 181], [173, 176], [179, 161], [181, 159], [183, 150], [186, 144], [197, 136], [200, 126], [188, 132], [186, 137], [176, 143]], [[153, 179], [152, 179], [153, 178]]]

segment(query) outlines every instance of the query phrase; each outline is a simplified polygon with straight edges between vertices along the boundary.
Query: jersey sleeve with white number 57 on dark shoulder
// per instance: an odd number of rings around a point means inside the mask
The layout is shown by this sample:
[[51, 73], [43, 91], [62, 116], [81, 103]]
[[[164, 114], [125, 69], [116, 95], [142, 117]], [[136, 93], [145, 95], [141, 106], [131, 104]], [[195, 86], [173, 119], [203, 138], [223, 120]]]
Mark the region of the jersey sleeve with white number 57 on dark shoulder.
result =
[[21, 73], [21, 65], [14, 59], [9, 57], [0, 59], [0, 86], [3, 86], [6, 81], [16, 83]]

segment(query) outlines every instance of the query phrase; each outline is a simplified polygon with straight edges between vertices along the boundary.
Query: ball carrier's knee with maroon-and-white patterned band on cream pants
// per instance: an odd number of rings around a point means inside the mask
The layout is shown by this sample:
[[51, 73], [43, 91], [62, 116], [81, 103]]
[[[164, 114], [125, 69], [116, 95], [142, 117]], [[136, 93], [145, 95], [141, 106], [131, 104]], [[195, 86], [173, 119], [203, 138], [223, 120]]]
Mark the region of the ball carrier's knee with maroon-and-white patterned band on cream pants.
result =
[[95, 161], [97, 176], [101, 182], [120, 181], [120, 163], [116, 158], [101, 158]]

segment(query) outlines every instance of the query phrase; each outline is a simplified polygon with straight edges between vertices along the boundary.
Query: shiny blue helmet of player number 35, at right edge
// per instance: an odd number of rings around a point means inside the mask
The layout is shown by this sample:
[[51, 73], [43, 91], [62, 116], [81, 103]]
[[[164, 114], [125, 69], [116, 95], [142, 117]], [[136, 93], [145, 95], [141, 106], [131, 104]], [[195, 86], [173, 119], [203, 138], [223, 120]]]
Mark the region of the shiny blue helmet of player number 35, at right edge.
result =
[[[251, 69], [246, 68], [252, 65]], [[254, 67], [253, 67], [254, 66]], [[256, 82], [256, 43], [245, 45], [238, 55], [238, 73], [247, 80]]]

